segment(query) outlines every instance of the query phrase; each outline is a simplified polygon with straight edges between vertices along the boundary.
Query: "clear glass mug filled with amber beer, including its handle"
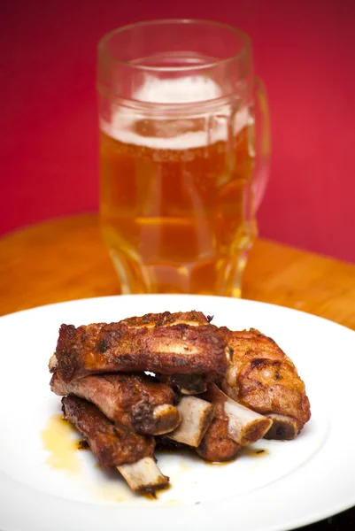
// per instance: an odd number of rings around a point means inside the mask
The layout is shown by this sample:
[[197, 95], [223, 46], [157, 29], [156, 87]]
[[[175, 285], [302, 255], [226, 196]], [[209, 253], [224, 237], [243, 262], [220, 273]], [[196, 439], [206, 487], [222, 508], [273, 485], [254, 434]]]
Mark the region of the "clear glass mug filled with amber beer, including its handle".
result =
[[241, 296], [266, 187], [266, 94], [234, 27], [172, 19], [98, 48], [100, 221], [121, 292]]

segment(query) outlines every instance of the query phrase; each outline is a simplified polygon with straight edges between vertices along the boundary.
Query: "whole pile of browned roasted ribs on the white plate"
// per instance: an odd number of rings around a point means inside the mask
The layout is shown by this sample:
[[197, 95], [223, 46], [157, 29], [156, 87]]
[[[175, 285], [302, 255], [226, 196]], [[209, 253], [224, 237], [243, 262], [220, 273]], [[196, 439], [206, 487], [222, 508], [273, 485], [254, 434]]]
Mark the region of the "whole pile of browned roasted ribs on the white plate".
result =
[[211, 320], [163, 312], [60, 327], [50, 387], [67, 395], [66, 419], [100, 464], [116, 466], [135, 492], [169, 481], [152, 435], [228, 461], [263, 436], [294, 438], [310, 419], [305, 384], [277, 344], [258, 330], [232, 332]]

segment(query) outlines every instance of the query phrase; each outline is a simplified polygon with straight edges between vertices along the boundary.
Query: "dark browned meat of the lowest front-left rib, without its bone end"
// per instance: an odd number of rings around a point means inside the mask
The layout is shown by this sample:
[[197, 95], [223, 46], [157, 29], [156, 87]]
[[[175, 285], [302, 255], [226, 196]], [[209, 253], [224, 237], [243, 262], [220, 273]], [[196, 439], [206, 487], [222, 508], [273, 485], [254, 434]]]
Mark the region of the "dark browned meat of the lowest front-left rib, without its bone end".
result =
[[65, 418], [77, 427], [104, 468], [152, 457], [153, 437], [137, 435], [132, 429], [112, 424], [96, 405], [78, 396], [64, 396], [62, 404]]

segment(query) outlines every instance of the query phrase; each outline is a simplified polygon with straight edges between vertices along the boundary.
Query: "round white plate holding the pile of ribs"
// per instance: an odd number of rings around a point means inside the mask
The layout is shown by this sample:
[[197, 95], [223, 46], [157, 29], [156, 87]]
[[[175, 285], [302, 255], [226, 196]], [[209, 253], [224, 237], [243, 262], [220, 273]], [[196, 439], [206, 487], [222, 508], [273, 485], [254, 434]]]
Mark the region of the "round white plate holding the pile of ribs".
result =
[[[172, 488], [157, 501], [132, 495], [119, 473], [73, 450], [76, 470], [49, 464], [43, 434], [60, 398], [48, 360], [62, 322], [79, 326], [146, 312], [200, 310], [232, 329], [259, 328], [295, 362], [312, 419], [295, 441], [261, 441], [262, 458], [225, 466], [189, 456], [158, 457]], [[355, 504], [355, 333], [271, 304], [212, 296], [112, 296], [53, 304], [0, 319], [0, 528], [106, 531], [203, 528], [285, 531]], [[58, 443], [70, 443], [58, 435]]]

